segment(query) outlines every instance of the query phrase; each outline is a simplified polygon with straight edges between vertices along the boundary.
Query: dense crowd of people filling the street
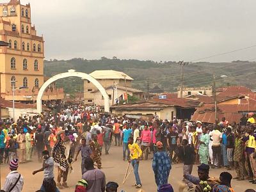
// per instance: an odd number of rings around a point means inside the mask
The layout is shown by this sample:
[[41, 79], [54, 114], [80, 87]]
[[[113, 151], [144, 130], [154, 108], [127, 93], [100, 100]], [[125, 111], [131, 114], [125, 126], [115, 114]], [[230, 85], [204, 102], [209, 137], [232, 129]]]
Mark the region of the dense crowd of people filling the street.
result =
[[[239, 124], [225, 118], [216, 120], [216, 124], [184, 122], [175, 117], [160, 120], [157, 115], [152, 120], [131, 120], [103, 113], [99, 107], [63, 104], [60, 113], [23, 116], [17, 121], [9, 118], [0, 122], [0, 163], [10, 164], [12, 171], [3, 190], [22, 191], [24, 178], [17, 172], [18, 164], [28, 163], [34, 155], [42, 168], [33, 175], [44, 171], [39, 191], [68, 188], [68, 172], [81, 153], [81, 180], [74, 190], [117, 191], [118, 184], [106, 184], [101, 170], [102, 152], [108, 155], [112, 144], [122, 147], [123, 161], [134, 170], [136, 189], [143, 190], [140, 161], [152, 159], [157, 191], [173, 191], [168, 177], [175, 163], [184, 164], [183, 182], [187, 191], [234, 191], [230, 173], [223, 172], [216, 179], [209, 177], [209, 170], [221, 167], [236, 170], [233, 179], [256, 184], [253, 115], [244, 114]], [[198, 177], [191, 175], [193, 164], [198, 164]], [[54, 165], [58, 169], [56, 182]]]

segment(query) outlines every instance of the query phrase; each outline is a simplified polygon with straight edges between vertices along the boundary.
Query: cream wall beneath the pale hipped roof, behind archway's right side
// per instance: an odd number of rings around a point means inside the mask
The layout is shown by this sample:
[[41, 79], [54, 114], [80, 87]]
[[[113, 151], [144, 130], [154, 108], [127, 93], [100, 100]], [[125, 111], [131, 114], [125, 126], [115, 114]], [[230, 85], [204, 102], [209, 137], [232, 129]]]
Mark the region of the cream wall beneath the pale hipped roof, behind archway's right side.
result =
[[[113, 86], [113, 84], [117, 84], [117, 86], [125, 86], [124, 79], [97, 79], [99, 83], [107, 88], [108, 86]], [[127, 80], [127, 87], [131, 87], [131, 81]], [[97, 90], [96, 86], [93, 85], [90, 81], [84, 80], [84, 102], [90, 103], [88, 100], [93, 100], [95, 98], [95, 93], [91, 93], [92, 91]]]

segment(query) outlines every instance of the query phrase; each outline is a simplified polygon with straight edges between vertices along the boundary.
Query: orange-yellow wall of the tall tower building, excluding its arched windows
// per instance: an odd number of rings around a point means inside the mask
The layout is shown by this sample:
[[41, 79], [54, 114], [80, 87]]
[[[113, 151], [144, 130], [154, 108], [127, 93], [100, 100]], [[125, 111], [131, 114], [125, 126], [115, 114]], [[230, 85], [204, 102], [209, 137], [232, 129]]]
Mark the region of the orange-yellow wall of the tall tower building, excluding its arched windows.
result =
[[[8, 15], [4, 16], [4, 8], [8, 9]], [[15, 8], [15, 13], [11, 15], [11, 8]], [[22, 16], [24, 9], [24, 16]], [[26, 17], [28, 10], [28, 17]], [[11, 78], [15, 77], [15, 86], [17, 88], [23, 86], [23, 79], [28, 79], [28, 91], [31, 92], [35, 86], [35, 79], [38, 79], [39, 88], [44, 84], [44, 38], [36, 35], [35, 26], [31, 25], [31, 8], [30, 4], [1, 4], [0, 5], [0, 39], [4, 42], [12, 41], [11, 47], [0, 48], [0, 72], [1, 74], [1, 95], [5, 99], [6, 92], [12, 92]], [[16, 31], [12, 31], [12, 25], [15, 24]], [[24, 31], [22, 31], [24, 26]], [[28, 27], [28, 33], [26, 28]], [[14, 48], [14, 42], [17, 41], [17, 49]], [[22, 42], [25, 49], [22, 50]], [[29, 44], [29, 49], [28, 49]], [[33, 49], [35, 44], [35, 50]], [[40, 49], [38, 50], [38, 45]], [[11, 68], [11, 59], [15, 58], [15, 68]], [[27, 60], [27, 69], [23, 68], [23, 61]], [[38, 69], [34, 67], [37, 60]], [[32, 93], [31, 93], [32, 95]], [[8, 99], [8, 98], [6, 98]], [[26, 100], [24, 97], [19, 97]]]

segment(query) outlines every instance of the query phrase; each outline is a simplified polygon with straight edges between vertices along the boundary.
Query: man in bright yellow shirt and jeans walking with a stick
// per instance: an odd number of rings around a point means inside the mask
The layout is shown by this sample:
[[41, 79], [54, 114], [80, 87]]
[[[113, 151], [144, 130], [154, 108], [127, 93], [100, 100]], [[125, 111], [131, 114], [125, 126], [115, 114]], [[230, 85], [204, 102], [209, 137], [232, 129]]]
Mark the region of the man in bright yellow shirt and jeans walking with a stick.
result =
[[139, 175], [139, 164], [140, 164], [140, 157], [142, 156], [142, 150], [137, 143], [133, 142], [133, 138], [130, 137], [128, 139], [128, 148], [130, 150], [130, 159], [129, 163], [132, 164], [133, 172], [136, 179], [136, 184], [134, 185], [137, 189], [142, 188], [142, 184], [140, 181]]

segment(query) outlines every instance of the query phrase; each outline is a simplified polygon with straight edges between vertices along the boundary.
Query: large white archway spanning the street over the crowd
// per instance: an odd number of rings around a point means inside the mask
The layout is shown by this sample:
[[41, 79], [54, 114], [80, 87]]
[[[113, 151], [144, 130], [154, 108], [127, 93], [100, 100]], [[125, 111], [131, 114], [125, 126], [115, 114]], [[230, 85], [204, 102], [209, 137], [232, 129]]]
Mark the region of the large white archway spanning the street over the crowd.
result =
[[76, 72], [76, 70], [74, 69], [70, 69], [68, 70], [68, 72], [51, 77], [50, 79], [45, 81], [45, 83], [42, 85], [36, 98], [36, 108], [38, 113], [42, 112], [42, 97], [44, 95], [44, 91], [47, 88], [47, 86], [49, 86], [54, 81], [57, 81], [58, 79], [63, 79], [65, 77], [81, 77], [82, 79], [86, 79], [92, 82], [99, 89], [100, 93], [104, 97], [104, 108], [106, 112], [109, 112], [109, 97], [108, 97], [108, 93], [103, 88], [103, 86], [92, 76], [82, 72]]

